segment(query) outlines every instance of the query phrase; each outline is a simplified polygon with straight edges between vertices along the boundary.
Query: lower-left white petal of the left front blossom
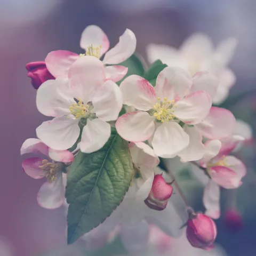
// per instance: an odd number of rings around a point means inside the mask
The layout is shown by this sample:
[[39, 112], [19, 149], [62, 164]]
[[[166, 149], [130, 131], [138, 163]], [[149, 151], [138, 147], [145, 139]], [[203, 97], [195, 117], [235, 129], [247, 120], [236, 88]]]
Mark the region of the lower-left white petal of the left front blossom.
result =
[[79, 119], [66, 116], [55, 117], [43, 122], [36, 129], [36, 134], [48, 147], [56, 150], [71, 148], [78, 139], [80, 129]]

